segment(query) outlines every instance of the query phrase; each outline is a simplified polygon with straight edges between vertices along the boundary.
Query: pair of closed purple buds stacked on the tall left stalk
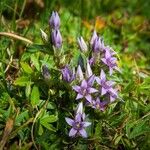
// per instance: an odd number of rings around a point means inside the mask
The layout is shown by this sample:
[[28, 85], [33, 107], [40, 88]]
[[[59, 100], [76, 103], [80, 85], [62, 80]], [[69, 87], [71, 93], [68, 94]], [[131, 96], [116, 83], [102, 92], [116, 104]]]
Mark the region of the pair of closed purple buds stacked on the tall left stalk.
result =
[[49, 20], [51, 31], [51, 41], [55, 48], [61, 48], [62, 46], [62, 37], [60, 34], [60, 18], [57, 12], [52, 12], [52, 15]]

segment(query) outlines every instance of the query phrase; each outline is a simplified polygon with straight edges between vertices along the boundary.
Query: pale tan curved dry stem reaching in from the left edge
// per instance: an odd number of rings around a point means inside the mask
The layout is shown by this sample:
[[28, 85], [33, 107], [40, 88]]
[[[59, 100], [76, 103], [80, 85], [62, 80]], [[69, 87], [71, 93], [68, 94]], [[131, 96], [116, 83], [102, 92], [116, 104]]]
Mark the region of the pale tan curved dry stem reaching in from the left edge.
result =
[[3, 36], [8, 36], [8, 37], [11, 37], [11, 38], [14, 38], [14, 39], [17, 39], [17, 40], [21, 40], [21, 41], [24, 41], [24, 42], [27, 42], [29, 44], [33, 44], [33, 42], [27, 38], [24, 38], [22, 36], [19, 36], [19, 35], [16, 35], [14, 33], [10, 33], [10, 32], [0, 32], [0, 35], [3, 35]]

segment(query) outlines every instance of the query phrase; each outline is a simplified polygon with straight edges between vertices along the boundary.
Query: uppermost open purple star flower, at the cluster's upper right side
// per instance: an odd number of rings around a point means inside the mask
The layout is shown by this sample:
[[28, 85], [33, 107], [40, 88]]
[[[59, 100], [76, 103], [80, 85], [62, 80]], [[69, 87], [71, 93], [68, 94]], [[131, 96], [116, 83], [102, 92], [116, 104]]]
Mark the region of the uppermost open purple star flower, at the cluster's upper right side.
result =
[[110, 75], [112, 75], [113, 69], [119, 71], [119, 68], [117, 67], [117, 63], [116, 63], [117, 58], [113, 57], [112, 55], [113, 54], [111, 54], [111, 52], [109, 50], [106, 50], [105, 51], [105, 57], [101, 59], [102, 62], [109, 67]]

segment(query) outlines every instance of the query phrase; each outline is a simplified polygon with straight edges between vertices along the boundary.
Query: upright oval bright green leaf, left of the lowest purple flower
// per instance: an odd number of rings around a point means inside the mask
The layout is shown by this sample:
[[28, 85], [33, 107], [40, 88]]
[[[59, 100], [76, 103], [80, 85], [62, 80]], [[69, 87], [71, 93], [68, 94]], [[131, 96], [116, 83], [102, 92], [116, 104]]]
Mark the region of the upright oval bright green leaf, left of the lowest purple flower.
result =
[[35, 85], [33, 86], [30, 99], [31, 99], [32, 106], [36, 106], [37, 104], [39, 104], [40, 101], [39, 89]]

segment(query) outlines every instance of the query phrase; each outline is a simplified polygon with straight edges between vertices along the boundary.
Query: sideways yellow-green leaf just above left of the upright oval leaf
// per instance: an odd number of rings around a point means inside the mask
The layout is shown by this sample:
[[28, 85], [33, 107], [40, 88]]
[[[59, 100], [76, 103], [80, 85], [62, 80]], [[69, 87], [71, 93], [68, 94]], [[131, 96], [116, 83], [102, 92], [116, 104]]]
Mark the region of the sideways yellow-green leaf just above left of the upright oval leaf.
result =
[[32, 82], [30, 81], [30, 78], [27, 76], [19, 77], [14, 81], [14, 85], [18, 86], [26, 86], [28, 84], [32, 84]]

